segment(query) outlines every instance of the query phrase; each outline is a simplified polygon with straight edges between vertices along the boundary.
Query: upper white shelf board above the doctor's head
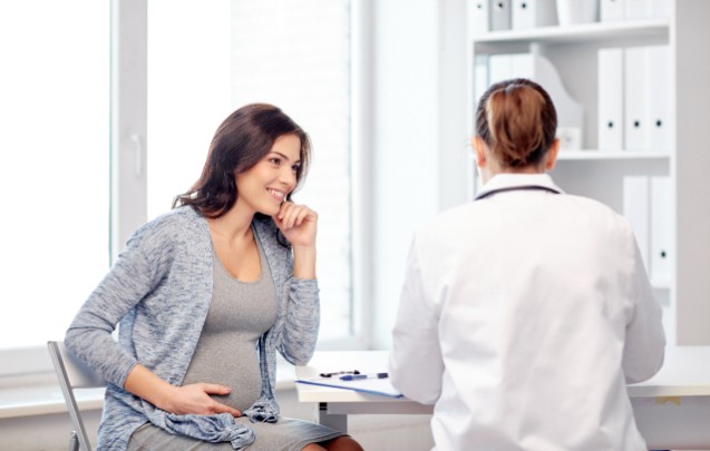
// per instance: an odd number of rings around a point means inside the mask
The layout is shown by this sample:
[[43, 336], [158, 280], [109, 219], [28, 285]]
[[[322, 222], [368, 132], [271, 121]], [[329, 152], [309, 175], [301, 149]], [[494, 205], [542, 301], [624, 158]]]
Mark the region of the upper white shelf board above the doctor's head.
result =
[[614, 40], [629, 37], [668, 37], [667, 19], [593, 22], [575, 26], [553, 26], [524, 30], [490, 31], [475, 36], [476, 43], [499, 42], [578, 42], [592, 40]]

